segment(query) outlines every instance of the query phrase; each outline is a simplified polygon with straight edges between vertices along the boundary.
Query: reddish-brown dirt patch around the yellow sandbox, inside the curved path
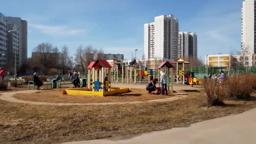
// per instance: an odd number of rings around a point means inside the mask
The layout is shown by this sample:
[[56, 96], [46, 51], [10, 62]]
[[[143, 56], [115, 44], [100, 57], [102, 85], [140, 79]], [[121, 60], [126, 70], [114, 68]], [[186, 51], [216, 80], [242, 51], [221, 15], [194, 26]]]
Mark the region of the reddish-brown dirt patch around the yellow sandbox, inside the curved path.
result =
[[64, 95], [63, 89], [40, 91], [33, 94], [16, 94], [14, 97], [25, 101], [38, 101], [49, 103], [103, 103], [103, 102], [124, 102], [124, 101], [145, 101], [152, 99], [170, 98], [165, 95], [149, 95], [146, 90], [132, 88], [129, 93], [115, 94], [113, 96], [81, 96], [81, 95]]

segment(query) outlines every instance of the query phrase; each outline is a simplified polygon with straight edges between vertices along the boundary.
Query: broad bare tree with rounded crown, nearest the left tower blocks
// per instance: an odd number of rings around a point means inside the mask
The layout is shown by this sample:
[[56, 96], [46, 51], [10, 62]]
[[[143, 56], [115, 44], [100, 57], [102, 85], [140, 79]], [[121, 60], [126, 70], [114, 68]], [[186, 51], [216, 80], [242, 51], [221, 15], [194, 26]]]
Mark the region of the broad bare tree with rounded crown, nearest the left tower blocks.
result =
[[50, 43], [40, 43], [34, 48], [34, 53], [32, 53], [33, 61], [41, 70], [43, 69], [43, 72], [46, 72], [53, 50], [53, 46]]

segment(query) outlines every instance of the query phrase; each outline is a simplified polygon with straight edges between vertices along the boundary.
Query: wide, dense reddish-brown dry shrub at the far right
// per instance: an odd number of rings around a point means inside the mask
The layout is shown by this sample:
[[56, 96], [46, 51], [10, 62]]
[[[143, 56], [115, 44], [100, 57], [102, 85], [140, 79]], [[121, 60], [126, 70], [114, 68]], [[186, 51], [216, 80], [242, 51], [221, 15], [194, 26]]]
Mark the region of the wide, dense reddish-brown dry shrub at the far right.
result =
[[[255, 83], [255, 81], [254, 81]], [[248, 99], [253, 92], [252, 74], [227, 77], [222, 84], [223, 91], [228, 99]]]

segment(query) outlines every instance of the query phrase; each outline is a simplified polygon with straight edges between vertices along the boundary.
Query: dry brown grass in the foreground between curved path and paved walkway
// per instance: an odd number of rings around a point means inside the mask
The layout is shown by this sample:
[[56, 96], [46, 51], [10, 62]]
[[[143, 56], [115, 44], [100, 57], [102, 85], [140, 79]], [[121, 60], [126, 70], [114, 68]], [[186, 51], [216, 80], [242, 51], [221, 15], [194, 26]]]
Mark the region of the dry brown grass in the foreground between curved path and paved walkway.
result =
[[256, 107], [255, 97], [201, 107], [203, 94], [189, 92], [186, 98], [169, 102], [106, 106], [60, 107], [0, 101], [0, 143], [49, 144], [157, 131]]

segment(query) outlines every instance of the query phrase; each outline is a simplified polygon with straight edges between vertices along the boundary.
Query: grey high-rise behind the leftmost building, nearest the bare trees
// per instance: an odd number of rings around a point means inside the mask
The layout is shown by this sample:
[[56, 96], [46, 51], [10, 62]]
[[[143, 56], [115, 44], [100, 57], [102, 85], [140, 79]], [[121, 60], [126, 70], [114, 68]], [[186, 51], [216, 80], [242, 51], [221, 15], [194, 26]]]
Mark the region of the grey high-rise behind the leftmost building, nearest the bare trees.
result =
[[7, 24], [10, 25], [10, 28], [8, 28], [9, 30], [17, 31], [16, 34], [8, 34], [8, 37], [10, 35], [10, 37], [13, 37], [15, 39], [12, 42], [10, 42], [10, 45], [8, 45], [8, 49], [11, 50], [11, 49], [17, 48], [17, 51], [18, 51], [18, 54], [17, 54], [18, 58], [16, 57], [17, 67], [26, 65], [27, 64], [27, 21], [22, 20], [21, 18], [18, 18], [18, 17], [9, 17], [9, 16], [8, 17], [5, 16], [5, 20], [7, 21]]

